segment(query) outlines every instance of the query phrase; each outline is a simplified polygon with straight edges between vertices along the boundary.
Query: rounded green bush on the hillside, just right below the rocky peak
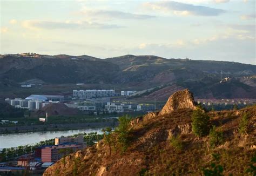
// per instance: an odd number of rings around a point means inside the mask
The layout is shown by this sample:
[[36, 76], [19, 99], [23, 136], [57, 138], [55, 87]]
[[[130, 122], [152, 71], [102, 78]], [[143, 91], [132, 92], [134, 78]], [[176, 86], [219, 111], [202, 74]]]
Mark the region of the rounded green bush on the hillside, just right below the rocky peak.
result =
[[192, 113], [192, 130], [196, 136], [203, 137], [209, 132], [210, 117], [197, 107]]

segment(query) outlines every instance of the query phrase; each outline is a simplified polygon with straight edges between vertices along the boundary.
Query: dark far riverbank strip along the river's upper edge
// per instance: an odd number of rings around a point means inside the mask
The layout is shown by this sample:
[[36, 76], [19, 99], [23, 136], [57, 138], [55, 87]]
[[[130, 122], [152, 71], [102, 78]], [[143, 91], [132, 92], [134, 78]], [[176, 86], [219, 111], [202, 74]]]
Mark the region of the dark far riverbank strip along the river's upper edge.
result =
[[80, 130], [80, 129], [85, 129], [85, 128], [103, 128], [103, 127], [107, 127], [107, 126], [114, 127], [117, 125], [118, 125], [117, 120], [112, 119], [109, 121], [95, 122], [95, 123], [9, 126], [9, 127], [0, 127], [0, 134]]

